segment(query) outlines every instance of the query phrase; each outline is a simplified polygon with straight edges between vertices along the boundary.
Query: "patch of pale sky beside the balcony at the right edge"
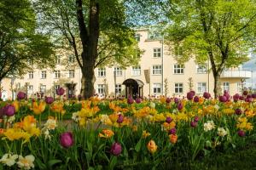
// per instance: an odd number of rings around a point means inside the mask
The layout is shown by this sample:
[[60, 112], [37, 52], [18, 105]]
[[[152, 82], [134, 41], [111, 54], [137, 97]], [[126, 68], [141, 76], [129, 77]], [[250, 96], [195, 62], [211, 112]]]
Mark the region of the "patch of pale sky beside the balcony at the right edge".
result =
[[244, 70], [253, 71], [253, 80], [252, 78], [247, 79], [247, 87], [251, 87], [253, 83], [253, 88], [256, 88], [256, 54], [250, 54], [250, 60], [247, 61], [242, 68]]

